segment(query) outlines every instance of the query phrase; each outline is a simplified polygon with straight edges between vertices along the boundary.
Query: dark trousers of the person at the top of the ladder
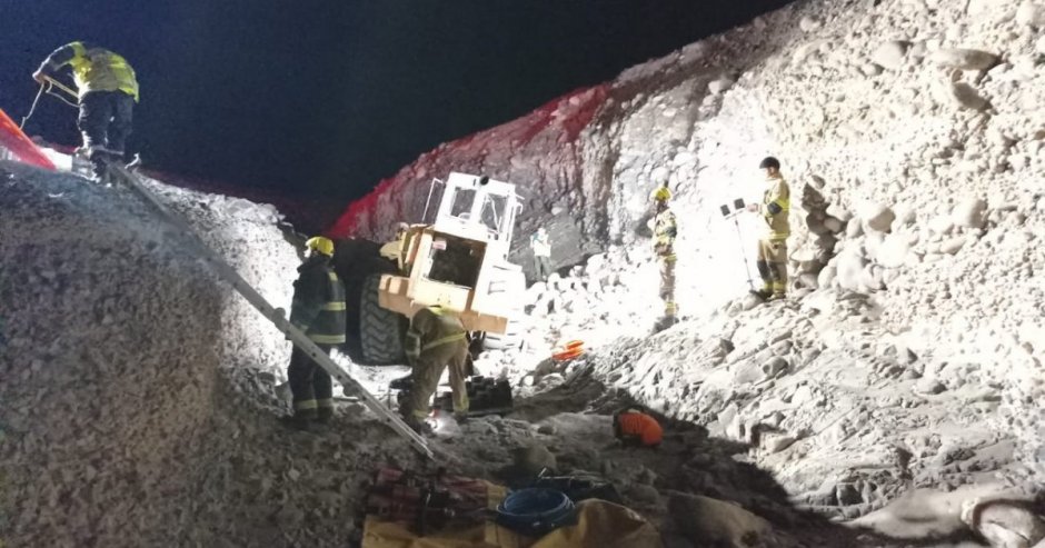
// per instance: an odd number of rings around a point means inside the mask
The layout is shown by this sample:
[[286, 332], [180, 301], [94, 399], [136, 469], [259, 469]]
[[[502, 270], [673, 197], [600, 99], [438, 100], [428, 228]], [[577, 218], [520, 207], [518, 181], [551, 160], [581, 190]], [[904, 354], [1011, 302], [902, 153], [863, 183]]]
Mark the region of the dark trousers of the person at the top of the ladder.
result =
[[135, 98], [122, 91], [91, 91], [80, 99], [77, 127], [83, 146], [104, 148], [123, 159], [127, 138], [131, 133]]

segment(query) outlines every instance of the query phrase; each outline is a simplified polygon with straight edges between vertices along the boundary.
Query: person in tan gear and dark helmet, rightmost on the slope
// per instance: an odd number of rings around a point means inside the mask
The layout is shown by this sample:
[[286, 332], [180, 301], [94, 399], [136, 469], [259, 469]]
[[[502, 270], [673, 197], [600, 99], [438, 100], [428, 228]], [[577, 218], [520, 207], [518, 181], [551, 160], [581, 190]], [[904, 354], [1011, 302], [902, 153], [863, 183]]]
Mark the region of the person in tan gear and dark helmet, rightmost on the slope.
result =
[[766, 188], [760, 203], [749, 203], [748, 211], [765, 221], [758, 239], [758, 275], [763, 287], [756, 293], [766, 300], [784, 299], [787, 293], [787, 237], [790, 236], [790, 188], [780, 175], [780, 162], [767, 157], [758, 165], [765, 171]]

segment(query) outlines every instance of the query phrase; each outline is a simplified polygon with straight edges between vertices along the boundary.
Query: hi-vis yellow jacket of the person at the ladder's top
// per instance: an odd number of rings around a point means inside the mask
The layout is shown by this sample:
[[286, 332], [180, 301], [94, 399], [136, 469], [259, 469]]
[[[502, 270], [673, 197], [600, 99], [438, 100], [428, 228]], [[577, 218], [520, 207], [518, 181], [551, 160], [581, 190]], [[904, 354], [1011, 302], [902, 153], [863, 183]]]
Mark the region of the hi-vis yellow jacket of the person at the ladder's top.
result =
[[104, 48], [72, 42], [52, 52], [43, 62], [51, 73], [66, 64], [72, 68], [80, 99], [91, 91], [122, 91], [138, 101], [138, 79], [123, 57]]

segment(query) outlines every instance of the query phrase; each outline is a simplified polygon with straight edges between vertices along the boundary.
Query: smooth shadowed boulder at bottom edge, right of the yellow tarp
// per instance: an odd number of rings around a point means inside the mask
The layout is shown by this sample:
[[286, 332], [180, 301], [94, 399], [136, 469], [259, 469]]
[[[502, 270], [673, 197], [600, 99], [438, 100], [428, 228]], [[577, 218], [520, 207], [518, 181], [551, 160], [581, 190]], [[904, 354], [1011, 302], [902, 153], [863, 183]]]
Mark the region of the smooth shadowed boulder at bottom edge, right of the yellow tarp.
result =
[[668, 512], [678, 530], [698, 546], [748, 548], [774, 542], [768, 521], [721, 500], [671, 492]]

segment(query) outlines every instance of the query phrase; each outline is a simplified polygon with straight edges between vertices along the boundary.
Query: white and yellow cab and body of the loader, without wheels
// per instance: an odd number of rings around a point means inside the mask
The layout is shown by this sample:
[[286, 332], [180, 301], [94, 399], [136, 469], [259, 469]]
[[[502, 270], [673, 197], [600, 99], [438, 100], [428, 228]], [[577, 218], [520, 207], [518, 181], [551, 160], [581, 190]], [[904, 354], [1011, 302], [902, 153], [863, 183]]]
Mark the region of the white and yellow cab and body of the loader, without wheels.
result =
[[400, 276], [382, 277], [380, 306], [410, 318], [440, 305], [458, 312], [470, 331], [504, 333], [525, 289], [521, 268], [508, 262], [520, 208], [515, 186], [450, 173], [432, 181], [426, 219], [436, 196], [435, 220], [411, 226], [404, 240]]

